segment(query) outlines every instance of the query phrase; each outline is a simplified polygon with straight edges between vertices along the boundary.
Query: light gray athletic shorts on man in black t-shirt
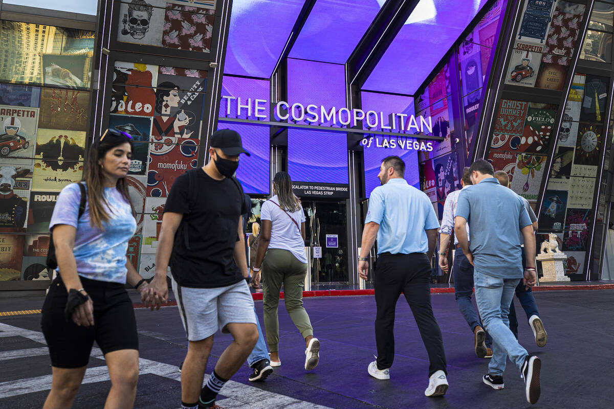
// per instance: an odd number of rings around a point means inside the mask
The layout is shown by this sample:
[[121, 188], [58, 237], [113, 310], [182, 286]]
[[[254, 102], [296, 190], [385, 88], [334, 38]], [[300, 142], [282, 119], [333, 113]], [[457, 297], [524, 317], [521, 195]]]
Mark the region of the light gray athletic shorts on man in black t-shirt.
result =
[[217, 332], [228, 333], [231, 323], [256, 323], [254, 299], [247, 282], [219, 288], [188, 288], [173, 280], [179, 315], [188, 341], [200, 341]]

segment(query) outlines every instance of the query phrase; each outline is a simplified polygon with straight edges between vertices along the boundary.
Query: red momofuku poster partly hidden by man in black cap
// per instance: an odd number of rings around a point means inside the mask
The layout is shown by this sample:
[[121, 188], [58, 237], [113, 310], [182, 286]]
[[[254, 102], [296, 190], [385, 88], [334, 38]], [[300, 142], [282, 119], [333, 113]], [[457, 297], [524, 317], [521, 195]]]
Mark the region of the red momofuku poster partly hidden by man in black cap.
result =
[[198, 166], [198, 145], [185, 139], [179, 145], [152, 143], [147, 168], [147, 196], [168, 197], [180, 175]]

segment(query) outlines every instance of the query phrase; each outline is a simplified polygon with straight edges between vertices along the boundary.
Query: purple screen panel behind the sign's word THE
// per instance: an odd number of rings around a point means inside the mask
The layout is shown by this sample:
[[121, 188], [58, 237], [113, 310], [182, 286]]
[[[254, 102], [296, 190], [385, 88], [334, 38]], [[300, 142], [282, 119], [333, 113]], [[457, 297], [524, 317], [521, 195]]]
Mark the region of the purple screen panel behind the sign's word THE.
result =
[[[243, 107], [241, 108], [241, 115], [238, 115], [238, 103], [241, 105], [249, 105], [251, 109], [251, 118], [255, 118], [255, 100], [263, 99], [266, 103], [260, 102], [260, 106], [266, 106], [265, 111], [260, 111], [260, 115], [266, 115], [266, 118], [260, 118], [260, 120], [269, 120], [269, 82], [267, 80], [254, 80], [253, 78], [231, 77], [224, 75], [222, 78], [222, 98], [220, 98], [220, 117], [228, 118], [243, 118], [247, 119], [247, 115], [250, 111]], [[236, 99], [230, 101], [223, 96], [231, 96]], [[238, 98], [241, 98], [239, 101]], [[228, 109], [230, 108], [230, 109]]]

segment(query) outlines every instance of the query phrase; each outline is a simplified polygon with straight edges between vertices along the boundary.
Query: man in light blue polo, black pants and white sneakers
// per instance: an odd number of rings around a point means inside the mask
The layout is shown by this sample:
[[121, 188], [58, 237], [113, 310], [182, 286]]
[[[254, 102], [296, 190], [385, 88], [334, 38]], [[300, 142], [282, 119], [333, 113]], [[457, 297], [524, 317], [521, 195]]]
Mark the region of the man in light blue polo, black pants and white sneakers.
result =
[[362, 233], [358, 271], [367, 280], [367, 255], [378, 239], [375, 267], [376, 361], [368, 366], [371, 377], [390, 379], [394, 359], [394, 314], [401, 292], [411, 307], [429, 354], [426, 396], [448, 390], [446, 357], [441, 331], [430, 304], [430, 259], [435, 251], [439, 222], [429, 197], [403, 179], [405, 163], [398, 156], [384, 158], [378, 178], [382, 186], [371, 192]]

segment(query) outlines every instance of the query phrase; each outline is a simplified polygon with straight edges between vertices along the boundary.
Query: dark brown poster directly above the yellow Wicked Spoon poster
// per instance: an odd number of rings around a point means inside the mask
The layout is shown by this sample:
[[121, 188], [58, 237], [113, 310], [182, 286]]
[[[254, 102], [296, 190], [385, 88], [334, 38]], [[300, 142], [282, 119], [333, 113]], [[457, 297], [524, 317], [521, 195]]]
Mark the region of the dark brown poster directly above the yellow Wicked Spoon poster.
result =
[[85, 131], [90, 93], [80, 90], [43, 88], [39, 126], [49, 129]]

